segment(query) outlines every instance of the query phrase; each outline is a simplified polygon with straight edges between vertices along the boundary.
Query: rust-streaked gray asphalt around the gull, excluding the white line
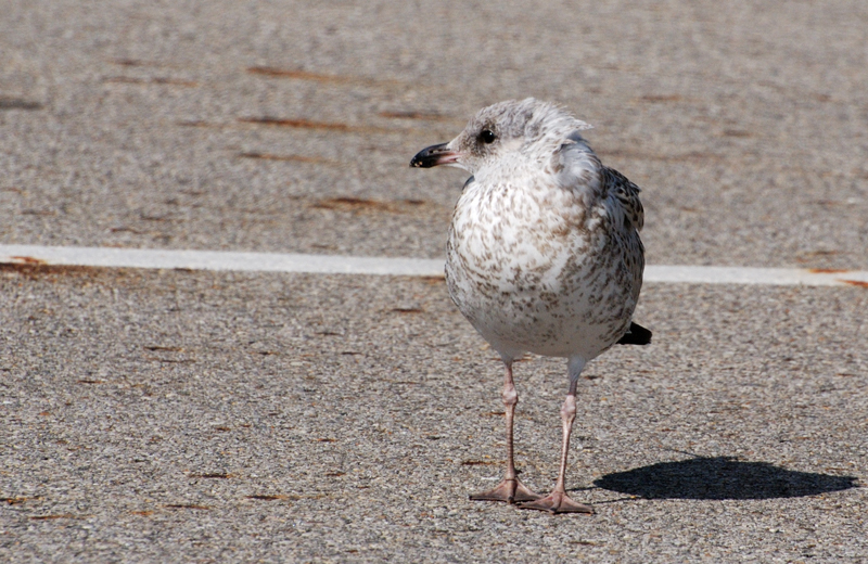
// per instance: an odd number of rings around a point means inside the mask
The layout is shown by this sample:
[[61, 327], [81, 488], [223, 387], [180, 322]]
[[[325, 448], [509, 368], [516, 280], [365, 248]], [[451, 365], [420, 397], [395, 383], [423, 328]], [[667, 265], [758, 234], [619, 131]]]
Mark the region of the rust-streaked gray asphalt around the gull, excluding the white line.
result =
[[[641, 185], [652, 264], [868, 268], [864, 2], [11, 1], [0, 242], [439, 257], [408, 168], [535, 95]], [[500, 367], [439, 280], [0, 268], [0, 560], [868, 562], [868, 291], [649, 284], [569, 488], [472, 503]], [[561, 361], [516, 367], [557, 475]]]

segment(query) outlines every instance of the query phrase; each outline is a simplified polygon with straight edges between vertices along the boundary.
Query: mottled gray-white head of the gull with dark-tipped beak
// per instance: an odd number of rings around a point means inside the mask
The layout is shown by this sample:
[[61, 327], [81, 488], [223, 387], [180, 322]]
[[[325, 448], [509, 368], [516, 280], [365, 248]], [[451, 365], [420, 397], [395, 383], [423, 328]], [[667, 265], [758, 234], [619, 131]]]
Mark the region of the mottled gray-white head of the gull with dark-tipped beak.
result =
[[508, 100], [480, 110], [458, 137], [423, 149], [410, 166], [447, 165], [476, 175], [503, 162], [547, 162], [564, 145], [584, 143], [579, 131], [589, 127], [554, 104]]

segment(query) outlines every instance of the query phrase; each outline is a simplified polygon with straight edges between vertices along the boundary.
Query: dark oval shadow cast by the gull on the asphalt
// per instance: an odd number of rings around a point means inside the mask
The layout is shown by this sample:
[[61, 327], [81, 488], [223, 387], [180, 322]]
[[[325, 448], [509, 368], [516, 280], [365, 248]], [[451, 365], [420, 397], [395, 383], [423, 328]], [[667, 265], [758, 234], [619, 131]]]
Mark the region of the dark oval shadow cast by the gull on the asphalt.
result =
[[660, 462], [608, 474], [593, 485], [646, 499], [796, 498], [859, 487], [854, 476], [795, 472], [732, 457]]

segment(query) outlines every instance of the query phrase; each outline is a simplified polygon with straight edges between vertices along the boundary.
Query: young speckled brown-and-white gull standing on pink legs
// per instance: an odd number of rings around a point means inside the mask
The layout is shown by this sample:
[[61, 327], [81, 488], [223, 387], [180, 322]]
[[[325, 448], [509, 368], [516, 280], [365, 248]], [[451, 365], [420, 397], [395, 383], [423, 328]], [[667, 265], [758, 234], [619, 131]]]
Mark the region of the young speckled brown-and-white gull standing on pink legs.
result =
[[[644, 269], [639, 188], [600, 163], [582, 137], [590, 126], [528, 98], [484, 107], [448, 143], [420, 151], [411, 167], [470, 172], [446, 245], [446, 281], [458, 309], [503, 361], [507, 469], [471, 500], [550, 513], [593, 513], [566, 493], [576, 387], [587, 362], [615, 344], [647, 345], [633, 322]], [[526, 352], [566, 359], [558, 482], [548, 496], [518, 478], [512, 363]]]

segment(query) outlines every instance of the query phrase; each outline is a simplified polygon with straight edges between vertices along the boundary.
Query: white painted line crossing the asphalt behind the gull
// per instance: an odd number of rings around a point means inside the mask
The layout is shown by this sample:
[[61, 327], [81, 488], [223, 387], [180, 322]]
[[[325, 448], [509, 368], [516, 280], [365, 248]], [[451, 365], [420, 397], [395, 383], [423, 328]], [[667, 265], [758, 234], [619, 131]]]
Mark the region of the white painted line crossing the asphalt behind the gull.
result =
[[[0, 264], [443, 277], [442, 259], [233, 251], [0, 245]], [[652, 265], [646, 267], [644, 281], [688, 284], [856, 285], [868, 287], [868, 271]]]

